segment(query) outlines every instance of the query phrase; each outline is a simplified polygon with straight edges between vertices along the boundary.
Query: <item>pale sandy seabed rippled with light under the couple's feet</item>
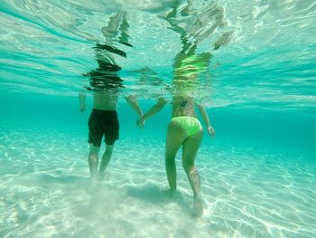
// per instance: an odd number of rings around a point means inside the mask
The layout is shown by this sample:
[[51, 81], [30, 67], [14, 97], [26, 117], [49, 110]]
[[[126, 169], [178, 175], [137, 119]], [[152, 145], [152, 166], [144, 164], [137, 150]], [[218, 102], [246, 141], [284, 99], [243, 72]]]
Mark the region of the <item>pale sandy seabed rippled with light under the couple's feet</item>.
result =
[[174, 198], [164, 192], [163, 145], [121, 139], [105, 181], [92, 185], [84, 135], [0, 138], [1, 237], [316, 235], [315, 168], [283, 157], [201, 148], [197, 166], [206, 208], [194, 219], [180, 157], [180, 192]]

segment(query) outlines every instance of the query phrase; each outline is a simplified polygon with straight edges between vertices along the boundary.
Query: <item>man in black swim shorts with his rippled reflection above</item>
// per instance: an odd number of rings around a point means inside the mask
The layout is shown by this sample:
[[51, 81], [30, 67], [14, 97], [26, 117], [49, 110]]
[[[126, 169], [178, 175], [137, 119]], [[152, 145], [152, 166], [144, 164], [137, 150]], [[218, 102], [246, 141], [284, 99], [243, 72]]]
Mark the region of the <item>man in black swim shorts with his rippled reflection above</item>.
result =
[[[121, 43], [133, 47], [128, 43], [128, 23], [125, 12], [119, 11], [112, 17], [107, 26], [102, 27], [101, 32], [106, 37], [107, 43], [96, 43], [93, 49], [96, 52], [98, 68], [84, 74], [89, 79], [87, 90], [93, 94], [93, 109], [88, 119], [88, 143], [90, 151], [88, 155], [88, 166], [92, 178], [97, 177], [98, 152], [101, 147], [102, 138], [105, 137], [106, 149], [101, 159], [99, 175], [104, 171], [112, 157], [116, 139], [119, 138], [119, 122], [116, 107], [118, 94], [123, 87], [123, 80], [117, 74], [121, 67], [116, 64], [115, 57], [126, 57], [126, 53], [116, 48], [112, 42]], [[118, 37], [118, 38], [117, 38]], [[135, 98], [126, 97], [127, 104], [136, 111], [139, 117], [143, 116]], [[79, 93], [80, 111], [86, 110], [86, 94]]]

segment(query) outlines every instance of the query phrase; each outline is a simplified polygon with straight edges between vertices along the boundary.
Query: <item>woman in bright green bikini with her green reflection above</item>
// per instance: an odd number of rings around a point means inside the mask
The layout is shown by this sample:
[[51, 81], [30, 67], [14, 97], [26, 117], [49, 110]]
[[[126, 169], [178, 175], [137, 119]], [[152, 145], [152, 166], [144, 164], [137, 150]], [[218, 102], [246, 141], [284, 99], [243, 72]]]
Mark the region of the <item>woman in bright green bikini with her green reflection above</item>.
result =
[[[178, 55], [179, 56], [179, 55]], [[176, 167], [175, 157], [179, 148], [182, 146], [182, 166], [188, 176], [193, 195], [193, 214], [200, 216], [203, 213], [203, 202], [200, 195], [200, 176], [194, 165], [195, 157], [200, 148], [200, 142], [203, 137], [203, 128], [200, 120], [197, 119], [195, 106], [200, 110], [200, 115], [204, 120], [209, 135], [214, 136], [215, 130], [209, 123], [209, 117], [203, 106], [196, 103], [189, 96], [195, 88], [195, 81], [198, 72], [202, 71], [204, 65], [201, 65], [201, 57], [205, 60], [205, 54], [191, 55], [185, 57], [178, 65], [175, 65], [173, 86], [174, 94], [172, 98], [172, 120], [169, 123], [165, 146], [165, 168], [171, 191], [176, 190]], [[209, 59], [208, 59], [209, 60]], [[204, 61], [208, 62], [208, 61]], [[203, 64], [203, 63], [202, 63]], [[205, 63], [204, 63], [205, 64]], [[143, 117], [138, 119], [138, 125], [144, 125], [144, 121], [149, 119], [158, 111], [163, 109], [167, 100], [159, 99], [149, 109]]]

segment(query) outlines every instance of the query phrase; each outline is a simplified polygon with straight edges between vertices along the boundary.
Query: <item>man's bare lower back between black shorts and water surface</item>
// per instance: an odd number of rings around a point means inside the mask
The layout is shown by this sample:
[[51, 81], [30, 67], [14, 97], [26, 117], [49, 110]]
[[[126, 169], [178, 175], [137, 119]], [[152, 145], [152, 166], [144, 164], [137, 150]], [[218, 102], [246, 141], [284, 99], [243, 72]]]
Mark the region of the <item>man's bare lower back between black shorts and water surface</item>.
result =
[[116, 110], [118, 95], [111, 91], [93, 92], [93, 109]]

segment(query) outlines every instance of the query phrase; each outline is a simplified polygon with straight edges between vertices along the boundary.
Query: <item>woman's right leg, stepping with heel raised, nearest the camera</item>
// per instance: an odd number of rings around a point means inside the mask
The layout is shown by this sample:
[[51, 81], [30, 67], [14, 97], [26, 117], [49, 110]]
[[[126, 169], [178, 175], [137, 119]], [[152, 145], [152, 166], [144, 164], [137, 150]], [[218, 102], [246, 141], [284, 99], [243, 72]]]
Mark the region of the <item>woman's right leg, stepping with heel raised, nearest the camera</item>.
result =
[[182, 166], [188, 176], [193, 195], [193, 213], [200, 216], [203, 214], [203, 202], [200, 195], [200, 176], [198, 169], [194, 166], [194, 160], [200, 148], [203, 132], [200, 131], [194, 138], [187, 138], [182, 148]]

